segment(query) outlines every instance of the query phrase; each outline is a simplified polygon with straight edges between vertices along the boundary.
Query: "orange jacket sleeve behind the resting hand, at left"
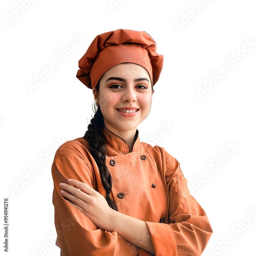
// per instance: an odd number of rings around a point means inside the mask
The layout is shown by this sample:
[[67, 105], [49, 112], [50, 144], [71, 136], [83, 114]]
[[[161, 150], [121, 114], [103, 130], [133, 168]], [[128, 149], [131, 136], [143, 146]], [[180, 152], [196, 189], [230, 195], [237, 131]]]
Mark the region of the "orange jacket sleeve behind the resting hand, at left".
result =
[[[138, 247], [120, 238], [117, 232], [97, 228], [82, 212], [71, 205], [59, 193], [59, 183], [73, 178], [97, 189], [97, 177], [89, 161], [70, 145], [61, 146], [53, 165], [53, 205], [57, 231], [56, 245], [62, 256], [82, 255], [138, 255]], [[104, 216], [102, 216], [104, 218]]]

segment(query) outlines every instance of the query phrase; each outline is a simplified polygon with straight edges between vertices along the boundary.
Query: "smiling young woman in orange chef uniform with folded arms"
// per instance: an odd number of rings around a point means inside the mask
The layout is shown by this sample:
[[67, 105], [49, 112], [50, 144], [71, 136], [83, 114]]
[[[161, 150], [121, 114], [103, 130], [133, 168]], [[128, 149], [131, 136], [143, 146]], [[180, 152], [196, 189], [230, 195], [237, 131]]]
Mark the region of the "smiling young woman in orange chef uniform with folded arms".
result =
[[201, 255], [212, 230], [178, 161], [140, 142], [163, 65], [145, 32], [98, 35], [77, 73], [97, 111], [52, 165], [56, 245], [63, 256]]

